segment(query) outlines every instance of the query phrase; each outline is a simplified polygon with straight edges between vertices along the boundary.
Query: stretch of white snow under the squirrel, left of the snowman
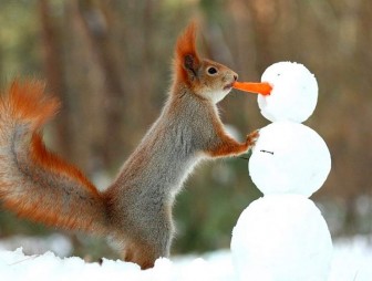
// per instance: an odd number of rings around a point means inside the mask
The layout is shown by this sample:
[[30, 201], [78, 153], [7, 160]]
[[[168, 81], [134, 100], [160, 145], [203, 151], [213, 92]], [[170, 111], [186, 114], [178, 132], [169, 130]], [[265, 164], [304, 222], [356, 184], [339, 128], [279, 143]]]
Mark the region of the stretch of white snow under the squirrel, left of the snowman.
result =
[[22, 248], [0, 251], [0, 280], [234, 280], [231, 262], [225, 253], [215, 253], [208, 260], [182, 258], [173, 262], [161, 258], [148, 270], [132, 262], [103, 259], [102, 264], [87, 263], [81, 258], [59, 258], [52, 252], [25, 256]]

